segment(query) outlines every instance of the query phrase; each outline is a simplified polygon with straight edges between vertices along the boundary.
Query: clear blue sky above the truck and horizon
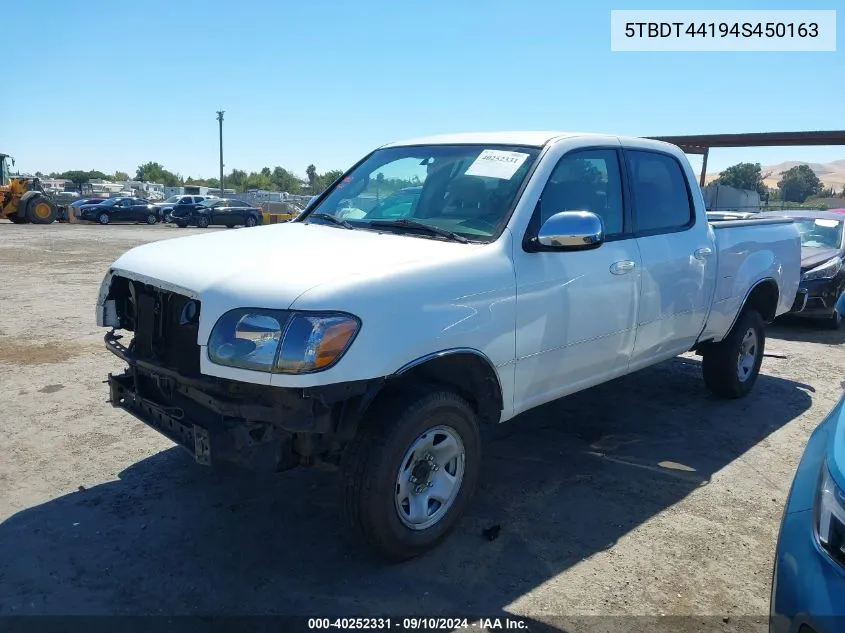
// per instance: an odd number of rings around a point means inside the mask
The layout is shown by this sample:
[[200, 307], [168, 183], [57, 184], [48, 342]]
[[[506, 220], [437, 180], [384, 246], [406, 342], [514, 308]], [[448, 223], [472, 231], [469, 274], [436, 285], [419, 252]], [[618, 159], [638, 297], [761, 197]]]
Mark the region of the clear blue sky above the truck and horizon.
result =
[[[687, 8], [835, 9], [841, 2]], [[38, 24], [3, 48], [0, 150], [22, 171], [120, 169], [157, 160], [183, 176], [344, 169], [423, 134], [555, 129], [618, 134], [842, 129], [845, 40], [835, 53], [620, 53], [603, 0], [30, 0]], [[845, 11], [839, 12], [840, 21]], [[14, 32], [22, 32], [13, 29]], [[739, 160], [845, 158], [845, 147], [752, 148]], [[695, 163], [694, 163], [695, 164]]]

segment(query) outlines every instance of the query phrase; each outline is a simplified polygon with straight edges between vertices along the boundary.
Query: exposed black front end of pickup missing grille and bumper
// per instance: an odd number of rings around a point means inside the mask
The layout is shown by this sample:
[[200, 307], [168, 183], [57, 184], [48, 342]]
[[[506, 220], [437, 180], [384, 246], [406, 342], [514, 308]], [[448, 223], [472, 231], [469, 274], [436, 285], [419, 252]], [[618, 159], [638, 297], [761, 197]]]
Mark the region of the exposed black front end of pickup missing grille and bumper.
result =
[[203, 465], [281, 471], [335, 464], [380, 380], [283, 388], [200, 372], [198, 297], [137, 275], [103, 282], [99, 325], [126, 363], [109, 374], [109, 399], [188, 450]]

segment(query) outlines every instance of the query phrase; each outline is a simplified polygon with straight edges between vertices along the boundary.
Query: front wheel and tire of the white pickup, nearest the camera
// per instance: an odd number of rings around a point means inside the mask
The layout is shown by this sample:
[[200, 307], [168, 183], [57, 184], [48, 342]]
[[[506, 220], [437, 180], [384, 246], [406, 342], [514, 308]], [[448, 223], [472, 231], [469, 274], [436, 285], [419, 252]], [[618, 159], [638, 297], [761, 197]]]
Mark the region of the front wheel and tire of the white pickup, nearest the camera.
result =
[[[438, 438], [451, 438], [454, 457], [437, 456], [436, 446], [447, 446], [440, 442], [429, 447], [434, 462], [413, 461], [415, 454], [421, 457], [427, 452], [426, 442]], [[415, 446], [418, 450], [412, 454]], [[341, 459], [344, 519], [383, 558], [411, 559], [434, 548], [455, 527], [472, 498], [480, 463], [478, 417], [466, 400], [444, 390], [384, 394], [365, 415]], [[413, 483], [411, 473], [420, 477], [418, 483]], [[458, 479], [456, 486], [449, 485], [454, 481], [447, 478], [449, 474]], [[406, 475], [408, 483], [402, 489], [399, 482]], [[423, 487], [419, 483], [423, 478], [431, 485]], [[449, 496], [436, 500], [430, 495], [441, 485]], [[418, 496], [421, 488], [432, 492]], [[413, 499], [425, 504], [417, 507], [422, 519], [415, 521], [415, 527], [409, 514]]]

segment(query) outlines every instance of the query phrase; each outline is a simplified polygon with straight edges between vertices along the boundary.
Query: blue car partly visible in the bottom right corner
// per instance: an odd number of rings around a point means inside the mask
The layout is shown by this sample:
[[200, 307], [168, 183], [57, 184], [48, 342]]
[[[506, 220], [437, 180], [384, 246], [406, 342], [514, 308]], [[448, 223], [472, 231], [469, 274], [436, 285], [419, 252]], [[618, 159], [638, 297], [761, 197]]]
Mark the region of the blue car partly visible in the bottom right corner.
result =
[[[836, 309], [845, 314], [845, 293]], [[778, 536], [770, 633], [845, 632], [845, 394], [798, 465]]]

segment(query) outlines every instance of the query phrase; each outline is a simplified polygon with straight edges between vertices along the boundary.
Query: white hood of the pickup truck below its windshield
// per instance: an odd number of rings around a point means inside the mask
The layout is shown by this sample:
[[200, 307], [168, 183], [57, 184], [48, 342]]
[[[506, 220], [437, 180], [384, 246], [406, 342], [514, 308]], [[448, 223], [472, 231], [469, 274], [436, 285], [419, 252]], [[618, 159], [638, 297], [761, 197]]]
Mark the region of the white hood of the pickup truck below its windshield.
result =
[[206, 304], [286, 309], [304, 292], [328, 281], [378, 277], [419, 260], [458, 260], [477, 248], [364, 229], [286, 223], [145, 244], [125, 253], [111, 268], [199, 298], [203, 312]]

